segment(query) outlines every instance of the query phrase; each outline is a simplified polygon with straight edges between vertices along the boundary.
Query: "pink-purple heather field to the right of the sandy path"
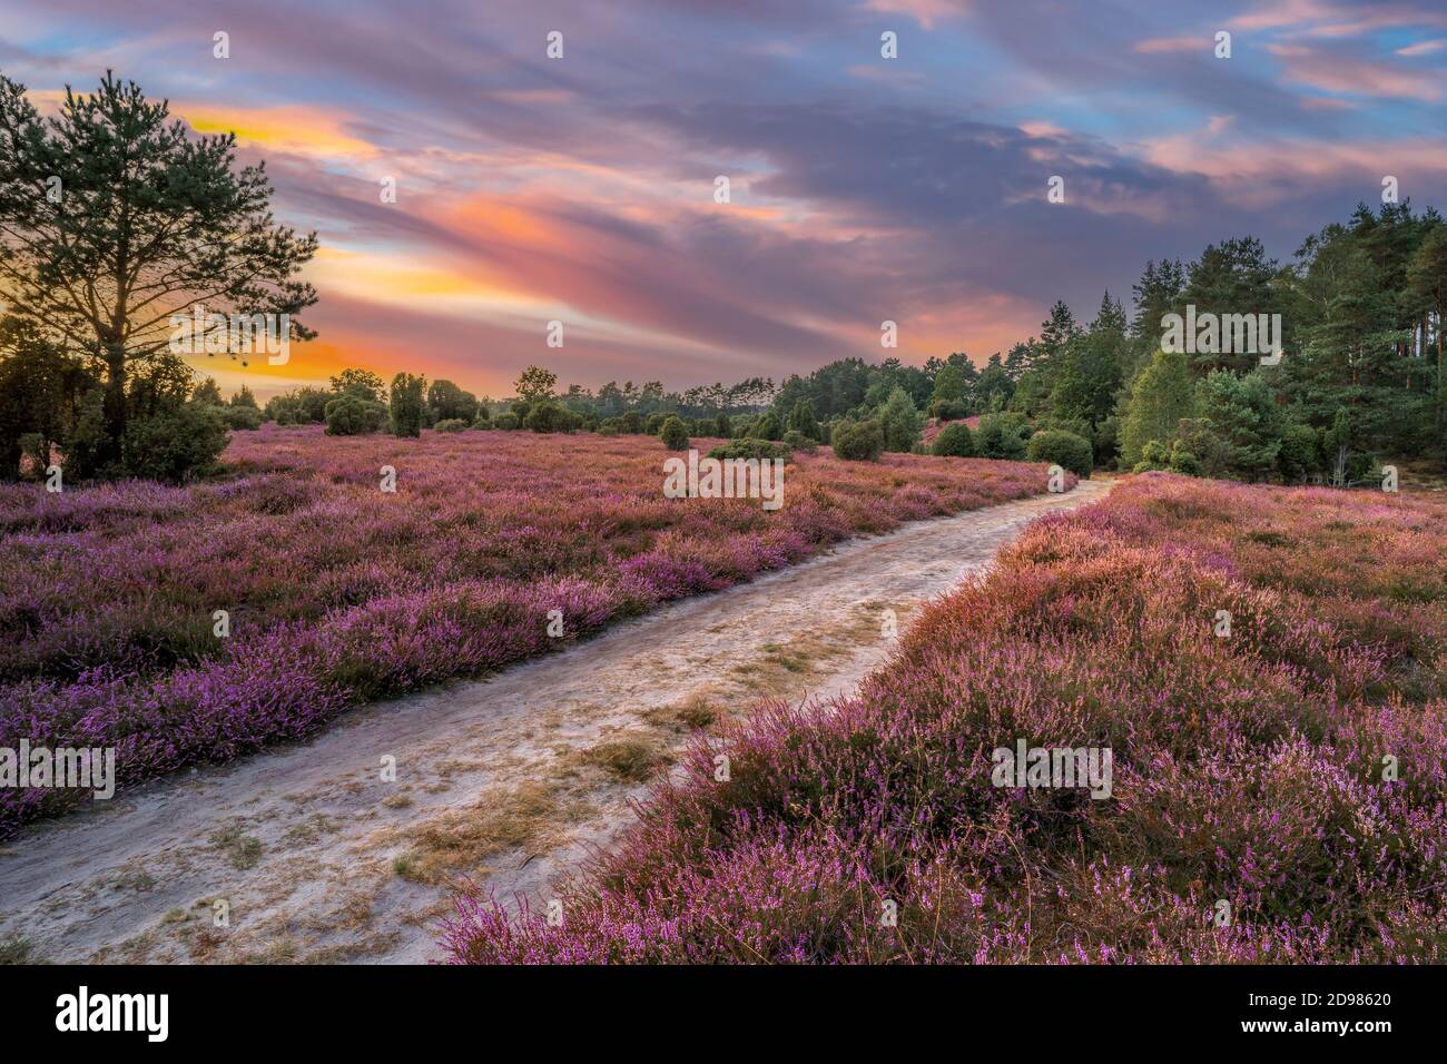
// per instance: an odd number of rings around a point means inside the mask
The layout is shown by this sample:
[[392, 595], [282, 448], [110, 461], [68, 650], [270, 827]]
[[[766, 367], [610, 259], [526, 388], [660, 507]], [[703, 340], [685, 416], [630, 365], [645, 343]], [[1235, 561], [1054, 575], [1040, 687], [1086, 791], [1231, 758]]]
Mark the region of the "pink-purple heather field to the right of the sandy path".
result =
[[[473, 893], [446, 944], [530, 963], [1440, 963], [1444, 517], [1421, 497], [1137, 476], [1033, 524], [857, 698], [700, 741], [561, 926]], [[1110, 798], [991, 786], [991, 750], [1022, 738], [1113, 750]]]

